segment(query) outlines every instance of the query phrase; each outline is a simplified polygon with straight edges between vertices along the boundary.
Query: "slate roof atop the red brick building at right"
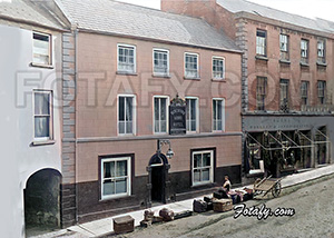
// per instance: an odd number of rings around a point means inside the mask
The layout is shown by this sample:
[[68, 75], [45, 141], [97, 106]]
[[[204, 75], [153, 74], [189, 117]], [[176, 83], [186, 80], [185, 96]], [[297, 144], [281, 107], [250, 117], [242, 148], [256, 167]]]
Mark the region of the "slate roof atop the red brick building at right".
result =
[[334, 31], [334, 26], [331, 27], [331, 23], [324, 23], [321, 19], [305, 18], [245, 0], [217, 0], [217, 3], [233, 13], [245, 11], [312, 30]]

